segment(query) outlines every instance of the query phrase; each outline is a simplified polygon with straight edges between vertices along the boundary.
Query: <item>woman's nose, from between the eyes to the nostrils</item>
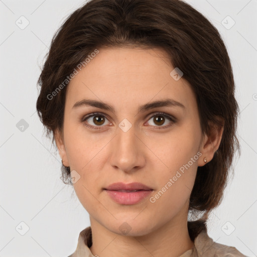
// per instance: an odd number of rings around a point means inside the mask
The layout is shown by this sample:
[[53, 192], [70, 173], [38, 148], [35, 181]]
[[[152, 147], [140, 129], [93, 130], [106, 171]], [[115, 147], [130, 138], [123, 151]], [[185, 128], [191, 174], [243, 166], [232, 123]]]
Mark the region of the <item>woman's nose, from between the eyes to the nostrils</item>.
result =
[[142, 168], [146, 162], [145, 145], [136, 135], [134, 126], [129, 131], [117, 128], [117, 135], [111, 141], [110, 165], [126, 173]]

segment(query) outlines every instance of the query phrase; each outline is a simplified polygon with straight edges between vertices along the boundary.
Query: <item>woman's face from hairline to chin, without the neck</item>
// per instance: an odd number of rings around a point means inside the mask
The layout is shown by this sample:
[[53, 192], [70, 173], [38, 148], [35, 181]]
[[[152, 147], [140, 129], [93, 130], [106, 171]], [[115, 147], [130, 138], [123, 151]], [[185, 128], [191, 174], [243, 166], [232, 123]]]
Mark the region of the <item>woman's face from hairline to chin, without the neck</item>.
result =
[[[195, 95], [169, 60], [157, 48], [99, 49], [67, 88], [60, 156], [91, 222], [118, 234], [122, 226], [144, 235], [187, 219], [206, 156]], [[133, 193], [123, 192], [117, 202], [105, 190], [116, 182], [151, 191], [131, 202]]]

